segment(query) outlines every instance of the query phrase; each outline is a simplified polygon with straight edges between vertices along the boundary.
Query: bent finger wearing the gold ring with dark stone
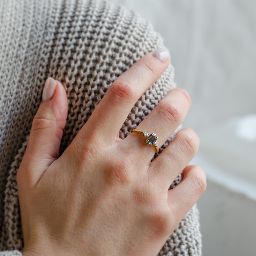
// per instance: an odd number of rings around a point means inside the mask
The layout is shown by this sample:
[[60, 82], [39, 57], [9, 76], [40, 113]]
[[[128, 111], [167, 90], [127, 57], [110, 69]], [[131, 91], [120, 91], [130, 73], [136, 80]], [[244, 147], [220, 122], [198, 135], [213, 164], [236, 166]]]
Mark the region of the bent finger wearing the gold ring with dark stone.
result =
[[[182, 123], [191, 105], [188, 93], [182, 89], [170, 91], [156, 108], [138, 125], [137, 129], [158, 136], [158, 147], [172, 135]], [[126, 139], [136, 155], [147, 155], [148, 162], [155, 154], [155, 147], [145, 143], [145, 137], [132, 133]], [[125, 141], [124, 140], [124, 141]]]

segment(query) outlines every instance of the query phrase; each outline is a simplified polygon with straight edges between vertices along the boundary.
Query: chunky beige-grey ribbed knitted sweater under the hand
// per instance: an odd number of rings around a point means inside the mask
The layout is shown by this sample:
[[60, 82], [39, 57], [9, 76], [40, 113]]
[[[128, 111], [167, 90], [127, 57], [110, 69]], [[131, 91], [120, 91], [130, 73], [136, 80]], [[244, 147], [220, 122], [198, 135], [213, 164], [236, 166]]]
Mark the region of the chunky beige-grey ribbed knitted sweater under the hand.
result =
[[[61, 154], [112, 82], [143, 55], [164, 46], [138, 14], [97, 0], [1, 0], [0, 24], [0, 255], [21, 255], [16, 172], [46, 79], [61, 81], [68, 95]], [[169, 65], [138, 100], [120, 138], [129, 135], [175, 87], [173, 79]], [[171, 188], [180, 180], [177, 177]], [[159, 255], [201, 255], [197, 216], [193, 207]]]

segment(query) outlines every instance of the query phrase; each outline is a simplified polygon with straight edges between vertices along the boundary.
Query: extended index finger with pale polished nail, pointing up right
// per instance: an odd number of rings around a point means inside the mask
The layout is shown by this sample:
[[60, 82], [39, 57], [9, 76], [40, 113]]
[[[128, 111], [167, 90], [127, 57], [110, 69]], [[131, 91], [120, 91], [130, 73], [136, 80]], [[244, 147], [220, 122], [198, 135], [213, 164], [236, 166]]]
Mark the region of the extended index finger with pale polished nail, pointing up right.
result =
[[167, 68], [168, 57], [163, 49], [151, 52], [118, 77], [76, 139], [84, 141], [89, 131], [101, 136], [102, 141], [116, 139], [134, 104]]

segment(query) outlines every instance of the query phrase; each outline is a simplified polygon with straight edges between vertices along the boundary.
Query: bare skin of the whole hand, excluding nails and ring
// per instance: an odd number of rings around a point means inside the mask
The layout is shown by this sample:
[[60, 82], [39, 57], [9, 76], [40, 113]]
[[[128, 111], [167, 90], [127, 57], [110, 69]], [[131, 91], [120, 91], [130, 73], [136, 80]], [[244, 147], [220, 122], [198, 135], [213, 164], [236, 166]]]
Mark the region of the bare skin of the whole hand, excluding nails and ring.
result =
[[[206, 189], [199, 166], [187, 166], [199, 138], [181, 130], [151, 162], [154, 146], [132, 133], [118, 137], [141, 95], [168, 66], [149, 53], [111, 85], [90, 119], [59, 156], [68, 100], [57, 81], [43, 101], [17, 173], [25, 247], [23, 255], [152, 255]], [[182, 89], [168, 93], [139, 124], [162, 144], [191, 105]], [[169, 185], [182, 173], [174, 189]]]

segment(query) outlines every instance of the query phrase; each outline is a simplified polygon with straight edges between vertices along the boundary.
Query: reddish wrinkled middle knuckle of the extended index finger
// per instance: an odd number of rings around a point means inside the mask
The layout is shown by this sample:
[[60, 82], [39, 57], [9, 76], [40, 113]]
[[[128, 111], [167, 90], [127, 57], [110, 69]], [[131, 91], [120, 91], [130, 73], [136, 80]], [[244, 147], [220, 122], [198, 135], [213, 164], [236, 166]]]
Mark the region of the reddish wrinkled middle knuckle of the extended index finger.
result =
[[127, 81], [117, 81], [111, 86], [112, 95], [118, 100], [130, 100], [136, 95], [136, 88]]

